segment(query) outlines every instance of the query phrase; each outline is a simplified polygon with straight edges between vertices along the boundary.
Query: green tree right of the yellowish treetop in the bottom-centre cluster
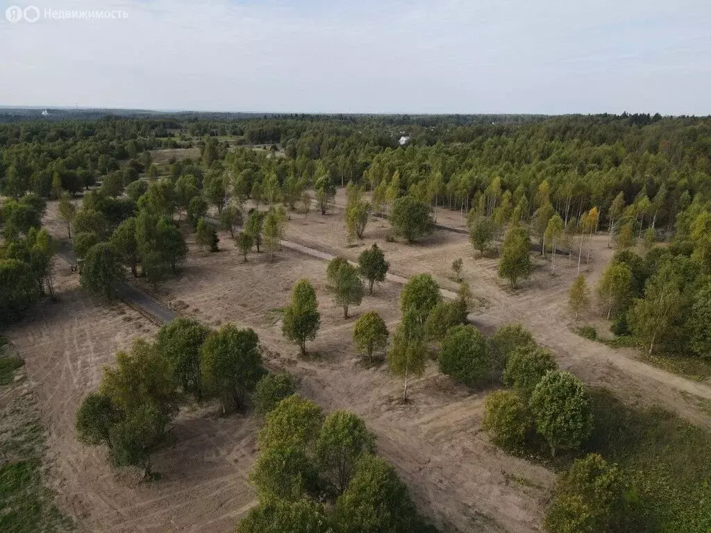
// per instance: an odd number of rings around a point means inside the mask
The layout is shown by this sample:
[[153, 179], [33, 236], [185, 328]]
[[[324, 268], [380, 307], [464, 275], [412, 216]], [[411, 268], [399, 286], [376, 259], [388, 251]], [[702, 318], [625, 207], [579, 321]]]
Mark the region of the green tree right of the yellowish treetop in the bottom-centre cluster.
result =
[[365, 453], [375, 453], [375, 436], [365, 422], [343, 409], [328, 414], [316, 440], [316, 460], [337, 495], [346, 490], [356, 463]]

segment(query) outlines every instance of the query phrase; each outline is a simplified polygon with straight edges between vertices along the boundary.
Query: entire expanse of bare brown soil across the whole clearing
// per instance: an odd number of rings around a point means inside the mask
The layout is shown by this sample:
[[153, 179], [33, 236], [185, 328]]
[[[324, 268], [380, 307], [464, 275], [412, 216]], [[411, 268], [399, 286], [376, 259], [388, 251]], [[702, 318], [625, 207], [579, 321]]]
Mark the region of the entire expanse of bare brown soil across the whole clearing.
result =
[[[65, 229], [52, 219], [57, 235]], [[442, 217], [440, 216], [440, 219]], [[456, 289], [451, 262], [464, 259], [464, 279], [478, 302], [471, 318], [486, 332], [520, 321], [552, 348], [558, 362], [585, 382], [611, 389], [631, 404], [663, 404], [695, 421], [708, 424], [694, 399], [682, 392], [711, 397], [705, 384], [639, 362], [634, 352], [612, 350], [572, 333], [567, 289], [576, 269], [557, 259], [557, 275], [548, 260], [537, 259], [530, 281], [513, 292], [496, 275], [496, 259], [474, 254], [466, 235], [440, 230], [418, 244], [386, 242], [387, 222], [371, 220], [363, 242], [346, 242], [338, 210], [321, 216], [311, 212], [304, 222], [292, 215], [287, 238], [322, 252], [351, 259], [372, 242], [383, 248], [396, 274], [431, 272], [447, 289]], [[364, 369], [351, 345], [353, 322], [375, 309], [390, 330], [399, 320], [400, 284], [376, 286], [352, 317], [343, 320], [325, 281], [326, 262], [283, 249], [277, 259], [250, 254], [247, 263], [227, 234], [218, 254], [205, 254], [188, 239], [191, 253], [176, 279], [166, 281], [156, 296], [186, 316], [217, 327], [232, 321], [254, 328], [270, 367], [283, 367], [299, 378], [299, 389], [327, 411], [351, 409], [378, 436], [380, 453], [392, 461], [412, 490], [424, 514], [446, 531], [539, 530], [554, 476], [545, 468], [506, 456], [481, 434], [483, 397], [429, 368], [412, 385], [412, 403], [400, 404], [402, 382], [384, 366]], [[604, 236], [595, 237], [587, 267], [594, 284], [611, 257]], [[77, 290], [77, 278], [63, 264], [58, 268], [60, 302], [38, 306], [36, 320], [16, 326], [9, 338], [26, 357], [28, 375], [36, 382], [43, 418], [50, 429], [55, 463], [53, 479], [60, 504], [80, 517], [89, 531], [232, 531], [237, 519], [254, 503], [246, 481], [255, 454], [256, 423], [239, 416], [219, 418], [215, 410], [186, 411], [176, 423], [176, 443], [156, 457], [159, 483], [141, 485], [135, 475], [116, 475], [104, 454], [75, 441], [73, 416], [85, 392], [94, 389], [100, 368], [112, 362], [115, 350], [136, 335], [150, 335], [154, 326], [125, 306], [97, 306]], [[322, 326], [309, 345], [311, 357], [281, 333], [281, 313], [294, 282], [308, 277], [316, 287]], [[518, 481], [517, 481], [518, 480]]]

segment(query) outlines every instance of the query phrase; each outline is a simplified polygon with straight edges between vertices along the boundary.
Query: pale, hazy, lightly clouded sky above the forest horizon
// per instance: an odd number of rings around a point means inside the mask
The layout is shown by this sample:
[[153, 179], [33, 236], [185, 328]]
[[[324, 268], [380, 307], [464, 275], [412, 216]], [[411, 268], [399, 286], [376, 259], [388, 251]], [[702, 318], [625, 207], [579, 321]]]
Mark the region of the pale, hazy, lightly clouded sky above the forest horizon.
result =
[[0, 105], [711, 114], [710, 0], [1, 1]]

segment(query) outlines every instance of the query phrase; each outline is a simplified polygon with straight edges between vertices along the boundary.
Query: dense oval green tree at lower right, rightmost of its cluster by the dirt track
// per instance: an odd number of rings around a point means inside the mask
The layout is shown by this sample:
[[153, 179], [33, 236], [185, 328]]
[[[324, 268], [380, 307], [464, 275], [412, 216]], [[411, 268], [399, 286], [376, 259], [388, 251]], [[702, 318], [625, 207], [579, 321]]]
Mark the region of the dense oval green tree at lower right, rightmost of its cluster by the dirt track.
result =
[[592, 430], [590, 399], [582, 382], [570, 372], [552, 370], [540, 380], [530, 399], [536, 429], [550, 446], [575, 450]]

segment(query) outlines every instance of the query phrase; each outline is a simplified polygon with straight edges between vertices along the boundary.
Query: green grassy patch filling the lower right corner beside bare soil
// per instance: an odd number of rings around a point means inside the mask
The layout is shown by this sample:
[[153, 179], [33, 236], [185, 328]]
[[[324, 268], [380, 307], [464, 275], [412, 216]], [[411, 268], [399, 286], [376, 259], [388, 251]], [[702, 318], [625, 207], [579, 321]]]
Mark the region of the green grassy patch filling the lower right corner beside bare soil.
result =
[[711, 531], [711, 433], [661, 409], [634, 409], [605, 390], [593, 393], [588, 450], [618, 463], [630, 483], [634, 532]]

